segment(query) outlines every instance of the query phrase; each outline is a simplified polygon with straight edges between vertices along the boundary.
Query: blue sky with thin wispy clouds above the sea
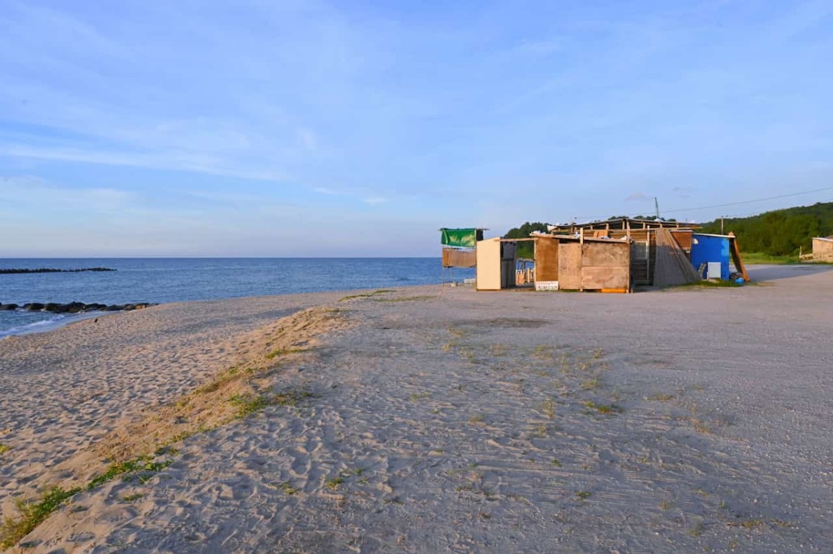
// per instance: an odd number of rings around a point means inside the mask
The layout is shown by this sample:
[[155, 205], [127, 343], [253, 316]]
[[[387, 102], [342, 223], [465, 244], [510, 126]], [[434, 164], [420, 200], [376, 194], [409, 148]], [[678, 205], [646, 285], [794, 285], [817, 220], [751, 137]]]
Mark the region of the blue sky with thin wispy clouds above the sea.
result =
[[831, 59], [829, 0], [0, 0], [0, 257], [831, 201]]

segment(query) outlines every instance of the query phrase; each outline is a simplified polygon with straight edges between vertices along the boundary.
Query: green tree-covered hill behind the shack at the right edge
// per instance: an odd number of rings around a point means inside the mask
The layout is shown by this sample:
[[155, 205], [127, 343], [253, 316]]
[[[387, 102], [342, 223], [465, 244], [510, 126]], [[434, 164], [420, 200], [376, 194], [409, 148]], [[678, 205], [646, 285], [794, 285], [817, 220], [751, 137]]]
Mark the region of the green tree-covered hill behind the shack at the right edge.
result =
[[[720, 233], [721, 220], [702, 224], [703, 233]], [[724, 219], [723, 230], [737, 235], [741, 251], [797, 255], [812, 250], [812, 237], [833, 235], [833, 202], [767, 211], [761, 215]]]

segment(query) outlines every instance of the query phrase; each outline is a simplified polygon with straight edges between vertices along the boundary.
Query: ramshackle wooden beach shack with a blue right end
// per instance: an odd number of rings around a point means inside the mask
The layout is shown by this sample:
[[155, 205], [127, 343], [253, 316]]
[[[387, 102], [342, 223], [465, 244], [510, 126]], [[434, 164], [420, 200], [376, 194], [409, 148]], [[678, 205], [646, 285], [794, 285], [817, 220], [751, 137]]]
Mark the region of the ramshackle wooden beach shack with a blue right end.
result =
[[[522, 239], [478, 240], [476, 288], [626, 293], [638, 284], [749, 280], [731, 233], [707, 235], [691, 223], [626, 217], [547, 229]], [[534, 242], [534, 267], [531, 260], [516, 259], [516, 243], [523, 240]]]

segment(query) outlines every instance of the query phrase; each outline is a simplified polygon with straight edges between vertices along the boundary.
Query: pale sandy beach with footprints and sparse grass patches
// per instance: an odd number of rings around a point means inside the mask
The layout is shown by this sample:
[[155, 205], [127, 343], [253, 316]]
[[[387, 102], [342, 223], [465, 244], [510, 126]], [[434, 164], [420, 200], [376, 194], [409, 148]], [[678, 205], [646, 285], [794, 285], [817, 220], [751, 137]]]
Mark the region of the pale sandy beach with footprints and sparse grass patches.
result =
[[831, 552], [831, 269], [165, 304], [0, 340], [7, 533], [79, 489], [9, 552]]

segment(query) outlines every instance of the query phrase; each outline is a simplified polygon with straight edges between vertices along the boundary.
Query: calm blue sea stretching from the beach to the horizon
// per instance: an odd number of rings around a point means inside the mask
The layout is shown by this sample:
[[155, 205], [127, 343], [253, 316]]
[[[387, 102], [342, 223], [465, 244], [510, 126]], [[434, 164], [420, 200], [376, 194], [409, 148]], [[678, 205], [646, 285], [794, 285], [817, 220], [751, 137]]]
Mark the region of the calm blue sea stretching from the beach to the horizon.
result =
[[[0, 304], [164, 304], [327, 290], [382, 289], [440, 284], [443, 280], [438, 257], [0, 259], [0, 269], [92, 267], [116, 271], [0, 274]], [[474, 277], [473, 270], [454, 270], [455, 281], [471, 277]], [[56, 329], [85, 317], [90, 314], [0, 310], [0, 338]]]

